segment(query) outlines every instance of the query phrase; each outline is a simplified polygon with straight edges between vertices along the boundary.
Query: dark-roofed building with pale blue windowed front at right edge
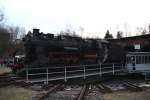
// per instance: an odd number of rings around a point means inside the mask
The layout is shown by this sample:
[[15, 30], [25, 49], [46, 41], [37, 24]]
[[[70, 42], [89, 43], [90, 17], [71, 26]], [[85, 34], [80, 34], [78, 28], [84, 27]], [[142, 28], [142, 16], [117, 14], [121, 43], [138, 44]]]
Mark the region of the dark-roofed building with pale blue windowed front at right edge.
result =
[[150, 75], [150, 34], [108, 41], [122, 46], [126, 51], [126, 67], [129, 73], [141, 73], [147, 79], [147, 75]]

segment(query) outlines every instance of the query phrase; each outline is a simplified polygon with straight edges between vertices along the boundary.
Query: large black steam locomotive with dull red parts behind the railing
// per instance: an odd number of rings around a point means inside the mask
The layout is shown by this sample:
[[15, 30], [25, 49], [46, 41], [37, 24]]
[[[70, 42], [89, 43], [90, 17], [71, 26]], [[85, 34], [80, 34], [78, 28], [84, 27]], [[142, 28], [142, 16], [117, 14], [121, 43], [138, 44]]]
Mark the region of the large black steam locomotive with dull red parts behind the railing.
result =
[[83, 39], [78, 36], [44, 34], [33, 29], [23, 39], [24, 65], [56, 67], [81, 64], [125, 62], [124, 50], [102, 39]]

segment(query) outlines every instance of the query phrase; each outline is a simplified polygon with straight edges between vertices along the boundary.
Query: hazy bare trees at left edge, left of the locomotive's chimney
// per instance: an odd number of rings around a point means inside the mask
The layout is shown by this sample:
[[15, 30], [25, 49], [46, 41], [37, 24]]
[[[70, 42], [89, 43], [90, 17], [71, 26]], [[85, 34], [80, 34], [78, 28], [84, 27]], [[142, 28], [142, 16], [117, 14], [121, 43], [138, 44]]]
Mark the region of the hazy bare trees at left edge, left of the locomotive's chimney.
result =
[[9, 56], [17, 49], [15, 40], [18, 34], [25, 34], [25, 29], [19, 26], [8, 26], [3, 22], [5, 22], [5, 16], [0, 11], [0, 56]]

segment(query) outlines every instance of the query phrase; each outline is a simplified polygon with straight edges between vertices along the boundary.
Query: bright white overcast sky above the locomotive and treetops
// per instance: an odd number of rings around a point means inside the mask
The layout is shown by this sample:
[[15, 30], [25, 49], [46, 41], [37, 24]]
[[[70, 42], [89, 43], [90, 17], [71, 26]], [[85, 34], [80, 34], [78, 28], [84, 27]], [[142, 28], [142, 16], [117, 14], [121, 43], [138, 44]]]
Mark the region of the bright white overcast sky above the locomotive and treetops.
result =
[[[136, 34], [150, 23], [149, 0], [0, 0], [7, 24], [59, 33], [67, 28], [83, 37], [103, 38], [107, 29]], [[126, 36], [124, 34], [124, 36]]]

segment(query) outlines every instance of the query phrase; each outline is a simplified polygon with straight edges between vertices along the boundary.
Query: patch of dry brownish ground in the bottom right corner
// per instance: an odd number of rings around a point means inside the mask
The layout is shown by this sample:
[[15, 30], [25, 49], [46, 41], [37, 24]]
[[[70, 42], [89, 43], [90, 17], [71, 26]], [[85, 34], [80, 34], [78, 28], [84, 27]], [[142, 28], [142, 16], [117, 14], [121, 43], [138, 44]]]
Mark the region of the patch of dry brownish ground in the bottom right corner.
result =
[[150, 88], [142, 92], [118, 91], [105, 94], [104, 100], [150, 100]]

